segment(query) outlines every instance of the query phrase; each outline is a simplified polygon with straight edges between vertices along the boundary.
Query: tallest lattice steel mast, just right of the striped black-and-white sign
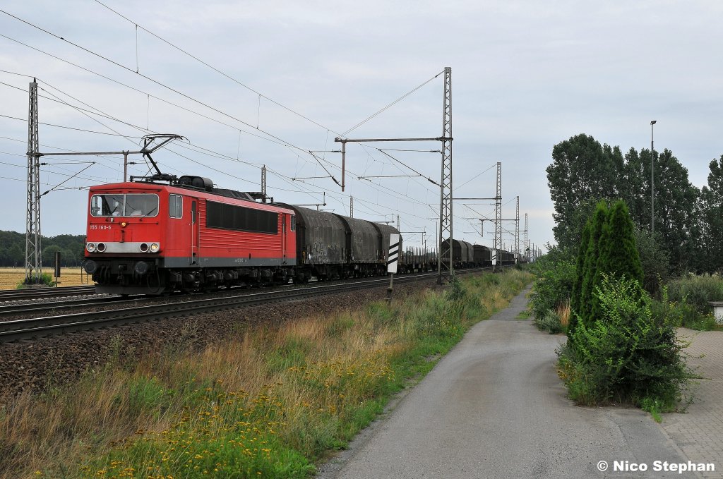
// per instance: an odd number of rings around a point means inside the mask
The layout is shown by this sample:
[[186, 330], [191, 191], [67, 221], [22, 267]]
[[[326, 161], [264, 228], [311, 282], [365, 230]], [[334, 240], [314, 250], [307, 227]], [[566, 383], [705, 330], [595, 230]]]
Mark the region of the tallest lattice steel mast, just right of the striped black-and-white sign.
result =
[[[440, 183], [440, 251], [437, 254], [437, 284], [454, 272], [452, 248], [452, 68], [445, 66], [442, 107], [442, 181]], [[445, 233], [448, 239], [445, 240]], [[449, 264], [442, 266], [442, 243], [448, 241]]]

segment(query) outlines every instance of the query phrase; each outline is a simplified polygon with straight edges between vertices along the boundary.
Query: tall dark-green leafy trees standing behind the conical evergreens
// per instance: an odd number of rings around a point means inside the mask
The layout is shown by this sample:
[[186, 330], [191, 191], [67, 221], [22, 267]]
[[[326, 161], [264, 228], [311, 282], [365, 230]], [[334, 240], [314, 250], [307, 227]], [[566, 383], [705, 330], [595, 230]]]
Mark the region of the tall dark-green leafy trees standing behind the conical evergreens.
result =
[[[600, 144], [578, 134], [552, 149], [547, 181], [555, 204], [555, 240], [578, 251], [583, 226], [600, 199], [623, 199], [636, 227], [644, 282], [657, 274], [723, 270], [723, 155], [711, 160], [708, 183], [690, 183], [688, 170], [669, 150], [654, 152], [654, 235], [651, 234], [651, 151]], [[657, 270], [656, 270], [657, 269]]]

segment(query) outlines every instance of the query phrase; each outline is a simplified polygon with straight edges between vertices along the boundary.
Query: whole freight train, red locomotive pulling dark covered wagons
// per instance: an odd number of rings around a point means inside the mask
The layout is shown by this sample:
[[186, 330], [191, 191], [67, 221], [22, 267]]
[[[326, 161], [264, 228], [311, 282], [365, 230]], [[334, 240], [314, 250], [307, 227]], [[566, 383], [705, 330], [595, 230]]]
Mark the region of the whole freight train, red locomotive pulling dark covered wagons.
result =
[[[93, 186], [88, 203], [84, 268], [98, 293], [158, 295], [385, 275], [390, 235], [399, 233], [383, 223], [257, 202], [200, 176]], [[399, 251], [400, 273], [436, 269], [436, 254], [404, 251], [401, 236]], [[442, 259], [448, 257], [443, 249]], [[485, 246], [457, 240], [453, 260], [457, 268], [492, 264]]]

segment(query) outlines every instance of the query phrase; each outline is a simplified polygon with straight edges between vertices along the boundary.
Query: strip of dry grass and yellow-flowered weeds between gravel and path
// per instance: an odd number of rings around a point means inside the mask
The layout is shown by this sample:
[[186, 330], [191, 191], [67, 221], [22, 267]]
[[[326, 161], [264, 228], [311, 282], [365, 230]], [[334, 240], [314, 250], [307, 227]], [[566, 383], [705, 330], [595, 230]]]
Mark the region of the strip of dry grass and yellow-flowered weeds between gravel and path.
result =
[[172, 345], [0, 410], [4, 477], [305, 477], [531, 281], [459, 280], [390, 305], [238, 327]]

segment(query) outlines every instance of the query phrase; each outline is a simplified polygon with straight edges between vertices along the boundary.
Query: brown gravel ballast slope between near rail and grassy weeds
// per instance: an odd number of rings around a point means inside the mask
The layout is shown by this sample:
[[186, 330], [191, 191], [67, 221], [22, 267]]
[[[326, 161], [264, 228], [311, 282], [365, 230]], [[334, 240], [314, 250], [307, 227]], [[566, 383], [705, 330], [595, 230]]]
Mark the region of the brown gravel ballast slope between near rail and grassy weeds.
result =
[[[435, 280], [395, 285], [394, 296], [402, 298], [432, 285]], [[181, 344], [200, 350], [224, 340], [242, 324], [279, 324], [310, 315], [354, 310], [380, 301], [385, 295], [386, 288], [373, 288], [0, 344], [0, 404], [24, 392], [38, 393], [68, 384], [84, 371], [103, 366], [110, 358], [122, 362], [144, 351]]]

